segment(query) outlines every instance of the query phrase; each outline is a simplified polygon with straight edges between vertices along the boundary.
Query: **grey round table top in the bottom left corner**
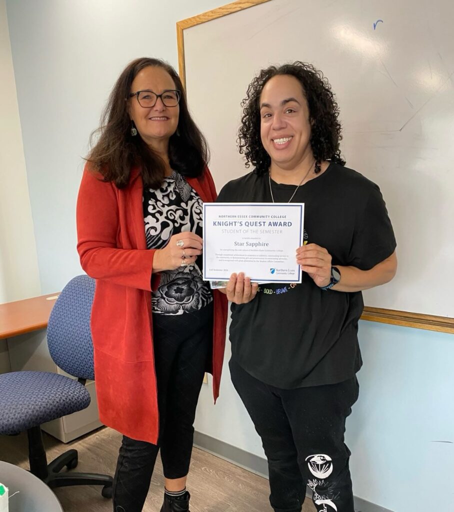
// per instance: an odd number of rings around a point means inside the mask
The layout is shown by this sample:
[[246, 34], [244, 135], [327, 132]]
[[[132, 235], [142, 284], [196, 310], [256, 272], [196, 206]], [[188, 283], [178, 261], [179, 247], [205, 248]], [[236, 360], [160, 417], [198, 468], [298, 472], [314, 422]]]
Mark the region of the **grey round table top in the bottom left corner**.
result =
[[21, 467], [0, 461], [0, 482], [9, 489], [9, 512], [63, 512], [52, 489]]

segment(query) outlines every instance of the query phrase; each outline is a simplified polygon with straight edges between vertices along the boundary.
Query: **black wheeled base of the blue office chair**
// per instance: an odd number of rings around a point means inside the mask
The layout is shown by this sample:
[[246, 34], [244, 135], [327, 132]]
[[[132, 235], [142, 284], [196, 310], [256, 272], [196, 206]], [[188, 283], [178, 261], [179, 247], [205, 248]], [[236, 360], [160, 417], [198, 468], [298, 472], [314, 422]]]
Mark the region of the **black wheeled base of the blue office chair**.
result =
[[77, 450], [68, 450], [59, 455], [55, 460], [47, 463], [46, 452], [42, 444], [40, 427], [28, 430], [30, 472], [49, 487], [66, 487], [69, 485], [102, 485], [101, 494], [104, 498], [112, 498], [113, 478], [109, 475], [95, 473], [60, 473], [63, 467], [73, 470], [77, 467]]

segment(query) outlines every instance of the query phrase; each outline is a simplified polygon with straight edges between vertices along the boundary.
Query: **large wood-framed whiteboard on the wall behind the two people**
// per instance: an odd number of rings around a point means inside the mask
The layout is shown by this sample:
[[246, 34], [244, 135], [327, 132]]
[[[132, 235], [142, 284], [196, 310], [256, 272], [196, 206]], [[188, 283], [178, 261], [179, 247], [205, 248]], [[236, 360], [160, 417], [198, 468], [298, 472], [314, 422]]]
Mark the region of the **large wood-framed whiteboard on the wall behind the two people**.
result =
[[184, 30], [218, 190], [251, 170], [236, 137], [257, 71], [303, 60], [328, 77], [342, 155], [380, 186], [398, 244], [396, 278], [365, 291], [367, 306], [454, 316], [453, 19], [449, 0], [271, 0]]

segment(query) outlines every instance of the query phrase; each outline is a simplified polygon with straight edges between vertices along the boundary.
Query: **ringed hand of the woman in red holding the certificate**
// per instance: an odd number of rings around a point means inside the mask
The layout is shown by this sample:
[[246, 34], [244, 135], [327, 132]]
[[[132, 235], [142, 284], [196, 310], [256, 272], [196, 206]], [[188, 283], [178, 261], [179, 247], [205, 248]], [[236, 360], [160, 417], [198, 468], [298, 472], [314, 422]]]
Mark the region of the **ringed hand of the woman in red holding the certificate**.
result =
[[174, 234], [163, 249], [155, 250], [153, 273], [191, 265], [200, 254], [202, 254], [202, 239], [196, 233], [183, 231]]

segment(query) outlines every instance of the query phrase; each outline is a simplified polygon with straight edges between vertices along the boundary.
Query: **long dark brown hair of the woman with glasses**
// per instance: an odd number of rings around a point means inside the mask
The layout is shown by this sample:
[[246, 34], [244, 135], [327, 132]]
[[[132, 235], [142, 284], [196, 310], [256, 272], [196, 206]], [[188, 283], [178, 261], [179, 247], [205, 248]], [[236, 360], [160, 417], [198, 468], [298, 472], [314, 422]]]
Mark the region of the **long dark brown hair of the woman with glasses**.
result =
[[[165, 162], [137, 134], [131, 135], [131, 120], [127, 111], [131, 84], [139, 71], [155, 66], [164, 69], [181, 91], [180, 116], [177, 132], [169, 140], [169, 162], [172, 169], [183, 176], [201, 176], [209, 153], [206, 140], [192, 120], [180, 77], [167, 62], [141, 57], [129, 62], [122, 71], [105, 106], [100, 127], [90, 137], [92, 149], [87, 160], [94, 164], [105, 181], [113, 181], [118, 188], [129, 182], [131, 169], [139, 166], [144, 186], [158, 188], [164, 179]], [[98, 137], [96, 143], [94, 139]]]

